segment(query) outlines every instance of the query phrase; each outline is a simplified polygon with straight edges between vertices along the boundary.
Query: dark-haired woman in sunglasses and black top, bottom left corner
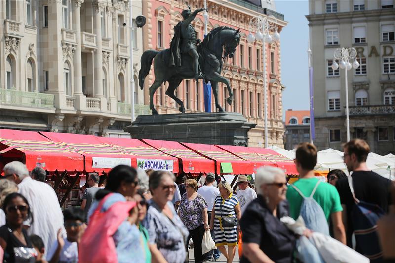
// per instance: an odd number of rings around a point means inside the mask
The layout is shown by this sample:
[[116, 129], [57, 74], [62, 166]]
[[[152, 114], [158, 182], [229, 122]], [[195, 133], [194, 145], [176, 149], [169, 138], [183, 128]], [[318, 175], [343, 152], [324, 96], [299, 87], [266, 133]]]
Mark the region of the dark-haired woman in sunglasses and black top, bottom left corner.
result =
[[28, 201], [19, 193], [11, 193], [5, 198], [3, 208], [6, 217], [6, 224], [0, 229], [3, 262], [35, 262], [37, 252], [23, 228], [23, 221], [32, 217]]

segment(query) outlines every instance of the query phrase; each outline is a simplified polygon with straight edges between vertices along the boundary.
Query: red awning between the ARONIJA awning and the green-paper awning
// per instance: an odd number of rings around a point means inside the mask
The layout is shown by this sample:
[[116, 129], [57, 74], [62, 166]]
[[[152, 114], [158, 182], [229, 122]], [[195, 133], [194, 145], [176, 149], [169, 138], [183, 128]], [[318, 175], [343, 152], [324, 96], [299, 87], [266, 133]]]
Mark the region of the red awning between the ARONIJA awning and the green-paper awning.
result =
[[178, 142], [142, 139], [145, 143], [180, 160], [184, 173], [199, 174], [215, 172], [215, 163]]

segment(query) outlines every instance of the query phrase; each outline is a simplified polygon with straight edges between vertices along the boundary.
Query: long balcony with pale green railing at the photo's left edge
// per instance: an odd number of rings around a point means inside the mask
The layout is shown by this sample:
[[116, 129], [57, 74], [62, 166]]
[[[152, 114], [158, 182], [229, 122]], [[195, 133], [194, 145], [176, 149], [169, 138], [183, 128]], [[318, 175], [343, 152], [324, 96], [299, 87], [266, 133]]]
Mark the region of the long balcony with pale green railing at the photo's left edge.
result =
[[46, 93], [0, 89], [0, 103], [2, 105], [54, 109], [54, 97], [54, 95]]

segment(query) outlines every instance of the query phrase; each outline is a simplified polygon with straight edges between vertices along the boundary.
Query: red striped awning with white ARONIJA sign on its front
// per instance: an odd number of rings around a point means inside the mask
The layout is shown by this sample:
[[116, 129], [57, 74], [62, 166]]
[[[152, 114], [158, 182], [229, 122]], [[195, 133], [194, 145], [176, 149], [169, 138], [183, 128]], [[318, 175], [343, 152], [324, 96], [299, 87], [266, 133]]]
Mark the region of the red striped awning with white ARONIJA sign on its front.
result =
[[[163, 153], [154, 147], [130, 138], [96, 137], [102, 143], [111, 144], [113, 147], [133, 156], [132, 166], [141, 169], [167, 170], [178, 173], [178, 159]], [[160, 142], [160, 141], [159, 141]]]

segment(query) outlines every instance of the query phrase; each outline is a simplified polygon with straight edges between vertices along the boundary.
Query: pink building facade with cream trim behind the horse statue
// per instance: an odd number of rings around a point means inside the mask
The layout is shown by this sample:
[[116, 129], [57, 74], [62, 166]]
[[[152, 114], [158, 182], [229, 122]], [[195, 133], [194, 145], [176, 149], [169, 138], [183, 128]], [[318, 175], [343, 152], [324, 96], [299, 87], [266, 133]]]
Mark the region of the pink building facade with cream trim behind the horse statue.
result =
[[[251, 2], [258, 2], [258, 5]], [[174, 35], [174, 26], [182, 21], [182, 10], [191, 6], [192, 11], [203, 8], [200, 0], [153, 0], [143, 1], [143, 15], [147, 17], [147, 26], [143, 27], [144, 50], [163, 50], [170, 47]], [[263, 4], [263, 5], [262, 5]], [[267, 8], [262, 8], [267, 7]], [[243, 114], [248, 122], [257, 126], [248, 133], [248, 146], [264, 145], [263, 122], [263, 64], [261, 42], [248, 43], [247, 35], [251, 31], [249, 22], [258, 15], [273, 14], [277, 18], [278, 32], [287, 25], [283, 15], [275, 12], [274, 1], [212, 1], [207, 0], [209, 14], [208, 32], [218, 26], [240, 28], [242, 38], [237, 47], [234, 59], [224, 61], [223, 75], [230, 80], [234, 93], [232, 105], [226, 103], [227, 90], [222, 83], [218, 84], [220, 105], [229, 112]], [[204, 18], [199, 13], [193, 22], [197, 37], [203, 40]], [[282, 90], [281, 84], [281, 48], [280, 42], [266, 44], [266, 73], [268, 101], [268, 138], [269, 145], [283, 147], [284, 126], [282, 123]], [[148, 88], [154, 81], [151, 69], [144, 87], [145, 104], [148, 104]], [[203, 81], [184, 80], [177, 88], [175, 95], [186, 108], [186, 113], [204, 112]], [[167, 83], [155, 93], [154, 103], [159, 114], [179, 113], [174, 100], [165, 95]], [[215, 111], [212, 98], [212, 111]]]

